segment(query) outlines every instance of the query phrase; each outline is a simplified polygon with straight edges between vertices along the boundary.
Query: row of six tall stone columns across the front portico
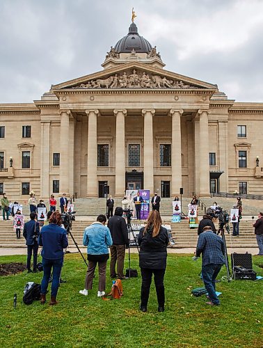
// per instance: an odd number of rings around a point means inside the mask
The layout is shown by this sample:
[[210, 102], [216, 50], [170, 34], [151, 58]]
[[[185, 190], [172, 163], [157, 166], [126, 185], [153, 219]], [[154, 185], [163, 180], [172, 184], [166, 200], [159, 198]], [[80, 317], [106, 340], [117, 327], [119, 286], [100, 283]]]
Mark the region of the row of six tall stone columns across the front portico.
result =
[[[182, 160], [181, 160], [181, 116], [182, 109], [171, 109], [172, 118], [172, 196], [180, 193], [182, 187]], [[125, 116], [126, 109], [115, 109], [113, 113], [116, 118], [115, 134], [115, 196], [123, 196], [125, 190]], [[154, 144], [153, 144], [153, 127], [152, 118], [154, 109], [143, 109], [144, 117], [144, 145], [143, 145], [143, 173], [144, 187], [154, 192]], [[87, 175], [87, 196], [97, 196], [97, 116], [99, 110], [86, 110], [88, 116], [88, 175]], [[70, 179], [68, 154], [70, 134], [70, 111], [61, 111], [61, 163], [60, 163], [60, 191], [69, 193]], [[208, 138], [208, 113], [206, 110], [199, 110], [199, 115], [195, 124], [195, 158], [196, 158], [196, 191], [204, 195], [209, 194], [209, 138]], [[42, 132], [45, 131], [43, 126]], [[44, 134], [43, 134], [44, 135]], [[47, 148], [45, 148], [47, 152]], [[76, 149], [78, 151], [78, 149]], [[44, 156], [44, 152], [42, 152]], [[45, 154], [47, 155], [47, 154]], [[43, 170], [44, 168], [43, 163]], [[200, 175], [200, 168], [202, 175]], [[42, 183], [43, 184], [43, 183]]]

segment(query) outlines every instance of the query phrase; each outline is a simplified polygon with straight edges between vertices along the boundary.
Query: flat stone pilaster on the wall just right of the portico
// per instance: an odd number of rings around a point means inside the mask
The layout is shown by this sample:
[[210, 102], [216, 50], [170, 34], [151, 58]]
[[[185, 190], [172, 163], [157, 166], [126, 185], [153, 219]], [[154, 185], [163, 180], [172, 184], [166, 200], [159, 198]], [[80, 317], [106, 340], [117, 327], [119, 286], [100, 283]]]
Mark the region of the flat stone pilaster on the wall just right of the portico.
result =
[[219, 190], [228, 192], [228, 121], [218, 121], [218, 139], [218, 168], [225, 172], [219, 178]]

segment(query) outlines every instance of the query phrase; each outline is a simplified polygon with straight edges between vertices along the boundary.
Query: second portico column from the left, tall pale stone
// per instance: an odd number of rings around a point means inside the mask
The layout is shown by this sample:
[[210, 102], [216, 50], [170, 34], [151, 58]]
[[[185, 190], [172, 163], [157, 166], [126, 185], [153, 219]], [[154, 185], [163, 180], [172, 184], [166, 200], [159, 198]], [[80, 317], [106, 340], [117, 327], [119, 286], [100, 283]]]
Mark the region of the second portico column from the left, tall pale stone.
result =
[[88, 115], [87, 197], [97, 197], [97, 115], [99, 110], [86, 110]]

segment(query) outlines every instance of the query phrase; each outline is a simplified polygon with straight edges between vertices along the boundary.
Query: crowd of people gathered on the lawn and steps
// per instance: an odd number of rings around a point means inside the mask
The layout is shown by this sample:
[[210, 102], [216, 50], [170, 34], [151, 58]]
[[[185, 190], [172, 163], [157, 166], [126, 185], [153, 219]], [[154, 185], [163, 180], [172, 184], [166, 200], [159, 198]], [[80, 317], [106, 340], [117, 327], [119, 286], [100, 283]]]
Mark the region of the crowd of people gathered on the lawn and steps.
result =
[[[179, 200], [176, 196], [175, 201]], [[165, 291], [164, 291], [164, 276], [166, 272], [167, 246], [169, 244], [168, 232], [162, 226], [161, 216], [159, 214], [161, 198], [154, 193], [152, 197], [152, 211], [148, 216], [145, 226], [141, 228], [138, 234], [138, 246], [141, 248], [139, 252], [139, 267], [141, 268], [141, 305], [140, 309], [143, 312], [147, 311], [148, 299], [150, 294], [150, 285], [152, 276], [154, 276], [154, 285], [157, 293], [158, 311], [164, 311]], [[88, 296], [88, 291], [93, 288], [93, 278], [95, 269], [99, 270], [99, 281], [97, 296], [102, 297], [106, 294], [106, 265], [110, 260], [110, 277], [111, 280], [120, 279], [126, 280], [127, 274], [124, 274], [125, 251], [129, 248], [129, 232], [127, 230], [127, 222], [123, 217], [123, 208], [130, 209], [131, 204], [134, 204], [136, 218], [141, 219], [141, 204], [143, 198], [140, 193], [130, 200], [126, 196], [122, 200], [122, 207], [116, 207], [114, 214], [114, 200], [112, 196], [107, 200], [107, 214], [99, 214], [97, 221], [88, 226], [83, 233], [83, 245], [87, 246], [88, 269], [86, 272], [86, 280], [83, 290], [79, 293]], [[49, 285], [50, 276], [52, 273], [51, 299], [49, 304], [56, 305], [56, 296], [61, 278], [61, 269], [63, 267], [64, 249], [67, 248], [67, 233], [62, 224], [61, 214], [67, 209], [68, 200], [65, 193], [59, 199], [59, 207], [61, 212], [56, 209], [56, 200], [53, 195], [49, 199], [49, 212], [47, 213], [47, 223], [41, 226], [38, 221], [37, 208], [45, 207], [43, 200], [39, 203], [35, 200], [35, 194], [31, 193], [29, 198], [30, 220], [24, 223], [23, 237], [26, 240], [27, 260], [26, 267], [29, 273], [37, 272], [38, 248], [41, 247], [43, 278], [41, 282], [41, 303], [44, 304]], [[198, 204], [198, 198], [193, 196], [191, 205]], [[3, 193], [1, 199], [3, 208], [3, 219], [9, 219], [10, 214], [17, 219], [21, 219], [21, 211], [17, 209], [15, 212], [15, 202], [10, 205], [10, 202]], [[237, 204], [234, 205], [238, 209], [238, 217], [242, 216], [241, 198], [237, 198]], [[214, 226], [215, 216], [220, 212], [220, 207], [216, 202], [210, 209], [207, 209], [207, 214], [203, 216], [198, 226], [198, 244], [195, 255], [199, 257], [202, 254], [202, 280], [207, 289], [210, 306], [218, 306], [219, 299], [216, 295], [216, 276], [223, 264], [225, 264], [225, 249], [223, 240], [216, 233]], [[108, 222], [107, 222], [108, 218]], [[233, 223], [234, 224], [234, 223]], [[239, 220], [237, 226], [233, 229], [233, 235], [239, 233]], [[17, 238], [20, 238], [21, 228], [16, 228]], [[253, 223], [257, 244], [259, 246], [258, 255], [263, 255], [263, 213], [260, 212], [258, 219]], [[33, 254], [33, 269], [31, 269], [31, 258]]]

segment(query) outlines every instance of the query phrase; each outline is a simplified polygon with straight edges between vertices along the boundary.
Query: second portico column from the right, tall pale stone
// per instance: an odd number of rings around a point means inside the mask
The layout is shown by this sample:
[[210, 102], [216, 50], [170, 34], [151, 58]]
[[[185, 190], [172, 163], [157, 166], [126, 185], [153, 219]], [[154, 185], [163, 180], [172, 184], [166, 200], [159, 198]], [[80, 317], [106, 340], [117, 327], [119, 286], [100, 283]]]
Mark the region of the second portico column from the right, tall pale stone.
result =
[[182, 187], [181, 115], [184, 110], [170, 110], [172, 117], [172, 197], [179, 196]]

